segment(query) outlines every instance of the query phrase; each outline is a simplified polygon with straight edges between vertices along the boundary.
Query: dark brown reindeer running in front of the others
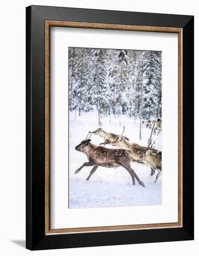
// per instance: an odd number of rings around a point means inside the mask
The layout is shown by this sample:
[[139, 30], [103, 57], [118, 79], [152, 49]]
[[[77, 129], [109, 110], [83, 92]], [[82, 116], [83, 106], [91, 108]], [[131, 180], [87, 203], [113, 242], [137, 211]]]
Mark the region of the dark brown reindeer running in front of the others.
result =
[[[90, 137], [91, 137], [91, 132]], [[89, 135], [89, 134], [88, 134]], [[85, 162], [80, 168], [75, 171], [75, 174], [79, 173], [80, 170], [85, 166], [93, 166], [89, 176], [86, 181], [89, 181], [90, 177], [97, 170], [99, 166], [106, 168], [115, 168], [122, 166], [125, 168], [132, 177], [133, 185], [135, 185], [135, 178], [139, 185], [145, 187], [144, 183], [139, 180], [134, 170], [131, 168], [131, 152], [125, 149], [113, 149], [105, 148], [103, 146], [97, 146], [91, 143], [90, 137], [75, 147], [75, 150], [86, 154], [88, 162]]]

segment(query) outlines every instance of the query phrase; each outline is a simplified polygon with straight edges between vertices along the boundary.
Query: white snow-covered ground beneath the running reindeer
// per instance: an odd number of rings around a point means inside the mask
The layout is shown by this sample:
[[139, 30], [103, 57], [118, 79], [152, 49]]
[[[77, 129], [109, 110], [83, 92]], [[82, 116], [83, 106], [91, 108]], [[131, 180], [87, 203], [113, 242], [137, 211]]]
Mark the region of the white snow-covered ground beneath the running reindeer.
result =
[[[87, 182], [86, 178], [93, 167], [84, 167], [78, 174], [74, 174], [84, 162], [87, 162], [86, 155], [75, 151], [75, 146], [85, 140], [88, 131], [99, 128], [97, 112], [81, 113], [76, 120], [74, 111], [69, 116], [69, 208], [88, 207], [113, 207], [113, 206], [133, 206], [133, 205], [157, 205], [162, 202], [162, 176], [154, 183], [157, 172], [151, 177], [151, 169], [146, 165], [132, 163], [132, 168], [145, 183], [145, 188], [137, 182], [132, 185], [129, 173], [122, 167], [103, 168], [99, 167]], [[151, 130], [142, 126], [142, 140], [139, 141], [139, 120], [121, 115], [121, 125], [119, 118], [111, 116], [101, 119], [102, 128], [106, 132], [120, 135], [125, 126], [125, 136], [130, 141], [146, 146]], [[103, 142], [99, 136], [92, 135], [92, 143], [99, 145]], [[161, 150], [162, 135], [153, 135], [155, 148]], [[112, 147], [112, 146], [108, 146]]]

